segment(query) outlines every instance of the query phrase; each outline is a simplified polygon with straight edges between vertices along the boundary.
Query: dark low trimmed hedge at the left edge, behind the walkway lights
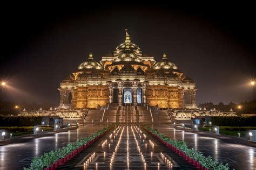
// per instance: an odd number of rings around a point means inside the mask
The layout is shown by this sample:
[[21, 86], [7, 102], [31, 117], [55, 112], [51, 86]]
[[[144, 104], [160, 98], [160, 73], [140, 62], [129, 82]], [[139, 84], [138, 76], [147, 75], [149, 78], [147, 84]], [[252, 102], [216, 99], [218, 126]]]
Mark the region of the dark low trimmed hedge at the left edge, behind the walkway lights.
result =
[[35, 126], [41, 125], [42, 116], [3, 116], [0, 115], [1, 126]]

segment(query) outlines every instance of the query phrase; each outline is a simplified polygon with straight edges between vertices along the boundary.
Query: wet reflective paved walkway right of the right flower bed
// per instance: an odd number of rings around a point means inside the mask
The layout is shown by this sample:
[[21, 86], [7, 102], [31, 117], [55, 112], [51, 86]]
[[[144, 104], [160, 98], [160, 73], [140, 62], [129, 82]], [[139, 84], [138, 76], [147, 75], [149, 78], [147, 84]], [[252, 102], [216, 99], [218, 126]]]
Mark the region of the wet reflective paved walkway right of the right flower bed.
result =
[[211, 155], [219, 162], [230, 164], [231, 169], [256, 169], [255, 147], [227, 143], [222, 139], [206, 137], [203, 134], [176, 130], [166, 124], [154, 125], [153, 128], [172, 139], [185, 140], [188, 147], [194, 147], [204, 155]]

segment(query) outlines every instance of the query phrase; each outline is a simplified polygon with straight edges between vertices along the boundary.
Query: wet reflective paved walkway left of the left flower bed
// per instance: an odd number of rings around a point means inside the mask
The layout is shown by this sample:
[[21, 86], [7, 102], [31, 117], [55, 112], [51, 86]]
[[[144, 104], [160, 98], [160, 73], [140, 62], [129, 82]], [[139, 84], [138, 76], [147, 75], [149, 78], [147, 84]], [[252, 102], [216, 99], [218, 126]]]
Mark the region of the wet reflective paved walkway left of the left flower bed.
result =
[[[48, 137], [31, 139], [24, 143], [0, 146], [0, 169], [23, 169], [30, 165], [33, 157], [40, 157], [44, 152], [66, 146], [77, 138], [87, 137], [106, 125], [88, 124], [79, 129], [49, 134]], [[29, 138], [29, 137], [24, 137]]]

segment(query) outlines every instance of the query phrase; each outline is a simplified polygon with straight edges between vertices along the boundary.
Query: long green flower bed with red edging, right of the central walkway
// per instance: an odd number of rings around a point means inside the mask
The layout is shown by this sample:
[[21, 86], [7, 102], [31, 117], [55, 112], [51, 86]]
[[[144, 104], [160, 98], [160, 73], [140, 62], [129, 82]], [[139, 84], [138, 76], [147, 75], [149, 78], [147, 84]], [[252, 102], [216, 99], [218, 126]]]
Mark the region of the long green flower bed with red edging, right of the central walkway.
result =
[[217, 161], [213, 160], [210, 155], [205, 157], [203, 153], [195, 151], [194, 148], [188, 148], [185, 141], [179, 141], [165, 137], [162, 133], [159, 133], [157, 129], [151, 129], [149, 126], [143, 125], [142, 127], [165, 146], [181, 155], [186, 161], [190, 162], [197, 168], [219, 170], [229, 169], [228, 164], [219, 164]]

